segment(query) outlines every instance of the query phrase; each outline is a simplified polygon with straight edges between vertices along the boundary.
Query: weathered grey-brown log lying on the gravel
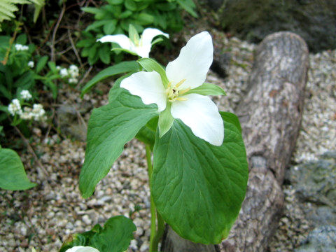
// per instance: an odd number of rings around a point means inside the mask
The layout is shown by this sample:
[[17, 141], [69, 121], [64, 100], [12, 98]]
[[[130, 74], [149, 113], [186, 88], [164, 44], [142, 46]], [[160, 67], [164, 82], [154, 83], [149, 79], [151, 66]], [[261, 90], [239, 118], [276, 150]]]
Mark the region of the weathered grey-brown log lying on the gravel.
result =
[[[249, 91], [236, 109], [248, 156], [248, 189], [220, 251], [265, 251], [272, 237], [283, 206], [284, 172], [300, 128], [308, 66], [306, 43], [290, 32], [267, 36], [255, 52]], [[167, 241], [179, 244], [181, 238], [168, 232]], [[183, 244], [183, 250], [169, 245], [162, 251], [211, 251], [190, 241]]]

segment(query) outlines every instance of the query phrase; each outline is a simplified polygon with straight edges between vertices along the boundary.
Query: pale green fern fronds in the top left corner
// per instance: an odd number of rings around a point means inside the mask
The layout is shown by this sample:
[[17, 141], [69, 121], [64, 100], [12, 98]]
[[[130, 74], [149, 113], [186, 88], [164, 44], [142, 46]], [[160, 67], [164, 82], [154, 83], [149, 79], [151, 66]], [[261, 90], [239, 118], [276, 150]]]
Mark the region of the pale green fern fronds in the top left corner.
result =
[[36, 22], [38, 15], [41, 11], [41, 8], [45, 5], [45, 0], [0, 0], [0, 31], [1, 31], [1, 22], [3, 20], [12, 20], [15, 18], [15, 11], [18, 11], [19, 8], [17, 4], [31, 4], [34, 3], [34, 22]]

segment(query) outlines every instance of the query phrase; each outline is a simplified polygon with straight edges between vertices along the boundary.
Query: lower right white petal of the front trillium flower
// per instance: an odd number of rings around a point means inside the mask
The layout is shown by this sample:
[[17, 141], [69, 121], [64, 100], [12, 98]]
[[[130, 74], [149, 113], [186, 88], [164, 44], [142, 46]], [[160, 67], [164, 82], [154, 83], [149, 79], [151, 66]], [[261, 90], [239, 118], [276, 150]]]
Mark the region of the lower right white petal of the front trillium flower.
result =
[[196, 137], [221, 146], [224, 125], [216, 104], [209, 97], [200, 94], [187, 94], [183, 98], [187, 100], [172, 103], [172, 116], [181, 119]]

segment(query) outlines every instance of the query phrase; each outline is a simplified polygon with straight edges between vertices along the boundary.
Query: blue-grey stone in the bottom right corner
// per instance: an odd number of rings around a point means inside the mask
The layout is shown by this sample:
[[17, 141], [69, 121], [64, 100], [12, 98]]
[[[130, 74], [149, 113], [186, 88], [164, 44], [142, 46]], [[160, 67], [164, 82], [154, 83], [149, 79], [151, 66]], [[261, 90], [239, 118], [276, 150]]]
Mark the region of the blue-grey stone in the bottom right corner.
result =
[[335, 252], [336, 227], [323, 225], [311, 231], [303, 244], [295, 252]]

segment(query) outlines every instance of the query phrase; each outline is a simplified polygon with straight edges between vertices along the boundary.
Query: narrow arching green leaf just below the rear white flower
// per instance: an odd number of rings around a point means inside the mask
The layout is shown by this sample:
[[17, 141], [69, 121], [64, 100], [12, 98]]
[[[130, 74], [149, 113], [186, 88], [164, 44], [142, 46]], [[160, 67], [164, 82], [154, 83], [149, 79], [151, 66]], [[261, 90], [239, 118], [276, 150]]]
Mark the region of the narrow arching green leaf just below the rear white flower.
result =
[[81, 97], [87, 93], [94, 85], [96, 85], [100, 80], [104, 80], [110, 76], [114, 76], [120, 73], [127, 73], [130, 71], [137, 71], [139, 69], [139, 64], [135, 61], [130, 62], [120, 62], [114, 66], [109, 66], [108, 68], [100, 71], [96, 76], [94, 76], [82, 89]]

